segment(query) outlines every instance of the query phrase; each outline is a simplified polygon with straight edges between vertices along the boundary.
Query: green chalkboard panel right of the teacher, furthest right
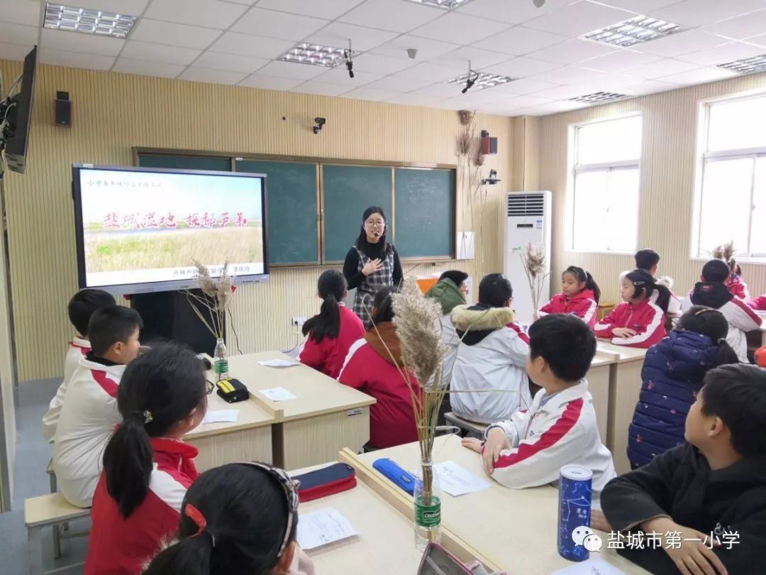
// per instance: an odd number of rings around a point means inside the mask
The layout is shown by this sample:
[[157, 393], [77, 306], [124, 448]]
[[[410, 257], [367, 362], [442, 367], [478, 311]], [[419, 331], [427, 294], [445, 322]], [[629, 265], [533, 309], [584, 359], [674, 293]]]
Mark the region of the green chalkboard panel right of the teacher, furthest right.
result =
[[401, 258], [453, 258], [455, 172], [451, 169], [394, 171], [396, 249]]

